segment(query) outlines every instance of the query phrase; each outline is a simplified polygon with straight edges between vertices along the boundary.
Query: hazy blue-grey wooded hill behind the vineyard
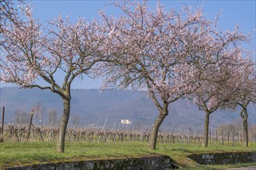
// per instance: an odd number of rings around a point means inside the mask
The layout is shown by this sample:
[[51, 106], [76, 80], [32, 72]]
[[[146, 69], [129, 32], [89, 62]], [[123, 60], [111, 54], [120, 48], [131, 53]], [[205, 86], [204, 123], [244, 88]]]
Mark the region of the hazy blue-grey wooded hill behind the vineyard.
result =
[[[41, 104], [43, 107], [43, 119], [47, 122], [50, 109], [57, 110], [59, 117], [62, 111], [62, 100], [50, 90], [20, 89], [19, 87], [0, 88], [0, 106], [5, 106], [5, 122], [13, 122], [16, 114], [26, 112], [27, 114]], [[84, 126], [102, 126], [107, 121], [107, 127], [112, 127], [115, 121], [120, 123], [121, 119], [129, 119], [133, 124], [126, 128], [146, 127], [151, 125], [157, 117], [157, 108], [147, 97], [147, 93], [134, 90], [71, 90], [71, 117], [78, 117], [78, 124]], [[255, 105], [248, 109], [249, 124], [255, 124]], [[240, 120], [239, 110], [227, 112], [217, 110], [210, 117], [210, 128], [216, 128], [218, 124], [231, 123]], [[194, 104], [187, 103], [181, 99], [171, 104], [169, 115], [164, 120], [161, 129], [193, 128], [202, 129], [204, 113], [198, 110]]]

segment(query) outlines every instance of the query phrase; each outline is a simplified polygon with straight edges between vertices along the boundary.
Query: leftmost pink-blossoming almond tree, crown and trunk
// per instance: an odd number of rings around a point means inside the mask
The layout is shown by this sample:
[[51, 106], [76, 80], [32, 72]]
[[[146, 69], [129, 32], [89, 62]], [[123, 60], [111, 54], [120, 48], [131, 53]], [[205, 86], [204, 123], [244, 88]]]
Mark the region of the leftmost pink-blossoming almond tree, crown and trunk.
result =
[[[33, 19], [29, 5], [20, 9], [21, 13], [15, 13], [12, 19], [6, 18], [6, 24], [1, 27], [0, 78], [20, 87], [51, 90], [62, 98], [64, 112], [57, 151], [64, 152], [71, 83], [77, 77], [93, 76], [95, 63], [103, 60], [104, 27], [95, 20], [85, 22], [85, 19], [71, 24], [68, 17], [60, 16], [50, 22], [49, 27], [42, 28], [40, 22]], [[48, 85], [42, 86], [38, 80]]]

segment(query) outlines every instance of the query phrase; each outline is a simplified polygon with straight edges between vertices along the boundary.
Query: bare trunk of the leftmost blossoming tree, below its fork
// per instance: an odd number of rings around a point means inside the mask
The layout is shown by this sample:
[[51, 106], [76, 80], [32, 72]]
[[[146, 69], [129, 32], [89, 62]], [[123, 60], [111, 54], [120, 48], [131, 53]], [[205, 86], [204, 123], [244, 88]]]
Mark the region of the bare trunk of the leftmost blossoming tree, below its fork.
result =
[[70, 109], [71, 109], [71, 97], [63, 98], [63, 116], [61, 119], [61, 128], [60, 128], [60, 137], [59, 137], [59, 143], [57, 145], [57, 151], [63, 153], [64, 152], [64, 144], [65, 144], [65, 136], [66, 136], [66, 130], [67, 130], [67, 122], [70, 115]]

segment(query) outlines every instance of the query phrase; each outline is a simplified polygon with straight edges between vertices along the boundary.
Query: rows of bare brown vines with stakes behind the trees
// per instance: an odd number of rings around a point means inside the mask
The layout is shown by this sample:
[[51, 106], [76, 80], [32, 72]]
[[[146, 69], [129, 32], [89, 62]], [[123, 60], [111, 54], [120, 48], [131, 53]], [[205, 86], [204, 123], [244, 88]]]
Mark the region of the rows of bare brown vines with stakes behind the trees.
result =
[[[88, 141], [88, 142], [148, 142], [150, 139], [150, 130], [129, 130], [119, 128], [104, 129], [103, 128], [68, 128], [66, 141]], [[119, 126], [120, 127], [120, 126]], [[0, 128], [2, 131], [2, 129]], [[4, 141], [57, 141], [59, 136], [59, 128], [49, 126], [29, 125], [20, 127], [17, 124], [5, 124], [2, 134]], [[202, 134], [193, 133], [191, 130], [180, 132], [159, 131], [157, 142], [161, 143], [188, 143], [200, 144], [203, 141]], [[249, 134], [249, 141], [255, 141], [254, 134]], [[241, 133], [223, 131], [209, 131], [209, 143], [216, 145], [243, 145]]]

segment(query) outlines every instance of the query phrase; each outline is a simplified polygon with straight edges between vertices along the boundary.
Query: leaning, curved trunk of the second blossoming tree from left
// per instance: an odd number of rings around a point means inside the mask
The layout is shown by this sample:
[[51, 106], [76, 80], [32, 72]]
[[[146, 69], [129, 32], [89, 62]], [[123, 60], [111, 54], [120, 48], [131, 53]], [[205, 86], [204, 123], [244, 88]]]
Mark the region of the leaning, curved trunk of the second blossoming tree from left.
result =
[[164, 117], [168, 115], [168, 104], [164, 104], [164, 108], [160, 111], [157, 120], [154, 122], [151, 133], [150, 141], [148, 143], [148, 149], [156, 149], [157, 145], [157, 133], [161, 126], [161, 123], [164, 121]]

